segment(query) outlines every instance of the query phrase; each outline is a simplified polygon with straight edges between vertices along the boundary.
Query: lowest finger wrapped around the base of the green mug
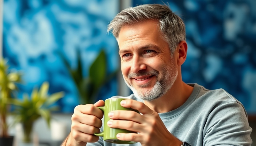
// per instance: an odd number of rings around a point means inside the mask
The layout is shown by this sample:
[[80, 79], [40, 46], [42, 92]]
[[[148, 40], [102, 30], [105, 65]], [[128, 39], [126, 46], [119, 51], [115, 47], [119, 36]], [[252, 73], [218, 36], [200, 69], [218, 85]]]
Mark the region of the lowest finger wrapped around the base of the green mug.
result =
[[143, 143], [143, 136], [138, 133], [118, 133], [117, 139]]

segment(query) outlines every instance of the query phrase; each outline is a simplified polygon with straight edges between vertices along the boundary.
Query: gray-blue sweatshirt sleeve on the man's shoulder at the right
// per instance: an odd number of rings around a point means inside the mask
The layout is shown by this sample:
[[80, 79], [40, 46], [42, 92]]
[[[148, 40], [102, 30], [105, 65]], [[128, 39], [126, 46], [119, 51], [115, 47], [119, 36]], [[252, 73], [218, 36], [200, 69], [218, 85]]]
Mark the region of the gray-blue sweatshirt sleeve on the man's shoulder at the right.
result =
[[233, 100], [216, 104], [205, 123], [203, 145], [249, 146], [252, 143], [251, 131], [246, 111], [240, 102]]

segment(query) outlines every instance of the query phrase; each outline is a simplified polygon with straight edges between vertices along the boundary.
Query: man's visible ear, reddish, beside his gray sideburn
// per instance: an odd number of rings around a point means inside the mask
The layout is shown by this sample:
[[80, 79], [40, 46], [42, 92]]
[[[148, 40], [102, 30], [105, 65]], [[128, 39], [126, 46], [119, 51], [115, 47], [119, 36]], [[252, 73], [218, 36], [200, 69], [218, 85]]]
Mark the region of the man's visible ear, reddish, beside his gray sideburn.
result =
[[177, 48], [176, 48], [176, 50], [177, 50], [177, 52], [179, 53], [179, 57], [178, 57], [178, 62], [177, 62], [177, 64], [179, 65], [179, 66], [181, 66], [184, 62], [185, 62], [185, 60], [186, 60], [186, 58], [187, 58], [187, 42], [186, 41], [181, 41], [179, 44], [178, 44], [178, 46], [177, 46]]

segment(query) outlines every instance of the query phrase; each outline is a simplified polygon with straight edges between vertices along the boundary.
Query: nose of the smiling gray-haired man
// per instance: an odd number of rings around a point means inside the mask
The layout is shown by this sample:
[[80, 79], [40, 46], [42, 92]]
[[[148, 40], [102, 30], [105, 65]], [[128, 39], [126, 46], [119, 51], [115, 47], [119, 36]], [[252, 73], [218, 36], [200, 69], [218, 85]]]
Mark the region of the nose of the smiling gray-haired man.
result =
[[140, 70], [145, 70], [146, 64], [143, 58], [139, 56], [133, 56], [131, 71], [134, 73], [138, 73]]

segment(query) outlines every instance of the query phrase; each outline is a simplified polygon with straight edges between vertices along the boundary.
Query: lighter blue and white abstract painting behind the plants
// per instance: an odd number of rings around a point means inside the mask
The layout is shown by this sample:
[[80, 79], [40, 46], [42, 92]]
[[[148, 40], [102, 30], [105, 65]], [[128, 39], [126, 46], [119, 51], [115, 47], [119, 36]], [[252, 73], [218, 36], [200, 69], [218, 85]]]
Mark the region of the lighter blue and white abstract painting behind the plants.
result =
[[[119, 68], [118, 46], [107, 34], [107, 25], [119, 11], [117, 0], [4, 0], [3, 57], [10, 68], [23, 73], [18, 98], [35, 86], [49, 82], [49, 94], [64, 91], [57, 102], [61, 112], [72, 113], [79, 105], [78, 91], [58, 53], [77, 67], [80, 50], [83, 76], [101, 50], [107, 56], [107, 72]], [[99, 91], [98, 99], [117, 95], [113, 78]], [[96, 100], [96, 99], [95, 99]]]

